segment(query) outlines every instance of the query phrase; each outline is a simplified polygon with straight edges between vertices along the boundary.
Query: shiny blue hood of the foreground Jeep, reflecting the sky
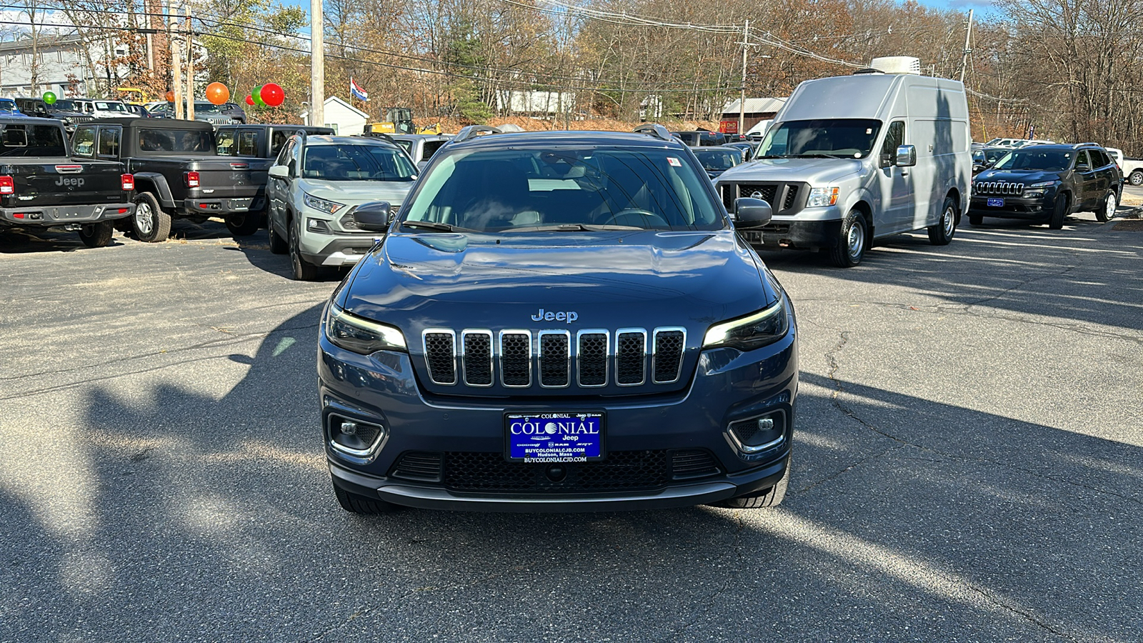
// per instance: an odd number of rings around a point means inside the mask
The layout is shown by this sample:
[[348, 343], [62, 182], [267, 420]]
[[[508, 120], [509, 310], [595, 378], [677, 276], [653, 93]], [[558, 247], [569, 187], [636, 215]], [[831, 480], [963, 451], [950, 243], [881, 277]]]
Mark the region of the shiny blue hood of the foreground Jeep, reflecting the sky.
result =
[[[732, 231], [399, 233], [361, 261], [337, 303], [406, 338], [438, 326], [686, 326], [701, 340], [776, 300], [754, 256]], [[577, 320], [533, 320], [541, 309]]]

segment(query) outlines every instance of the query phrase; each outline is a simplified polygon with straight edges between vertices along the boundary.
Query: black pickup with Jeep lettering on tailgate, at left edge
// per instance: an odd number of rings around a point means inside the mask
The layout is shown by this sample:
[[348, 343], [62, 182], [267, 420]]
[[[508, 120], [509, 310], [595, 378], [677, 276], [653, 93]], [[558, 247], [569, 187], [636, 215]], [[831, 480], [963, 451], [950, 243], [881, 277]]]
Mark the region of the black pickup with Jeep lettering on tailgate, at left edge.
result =
[[87, 246], [106, 246], [112, 221], [135, 212], [134, 177], [119, 161], [67, 152], [62, 121], [0, 118], [0, 227], [63, 225]]

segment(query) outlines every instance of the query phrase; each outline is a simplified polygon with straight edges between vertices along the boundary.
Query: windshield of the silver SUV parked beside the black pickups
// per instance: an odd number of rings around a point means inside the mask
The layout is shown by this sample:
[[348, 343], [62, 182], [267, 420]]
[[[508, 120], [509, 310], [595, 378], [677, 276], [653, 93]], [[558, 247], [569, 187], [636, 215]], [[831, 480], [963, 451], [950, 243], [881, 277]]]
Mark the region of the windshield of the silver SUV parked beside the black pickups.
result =
[[312, 145], [302, 158], [302, 176], [322, 181], [413, 181], [417, 169], [387, 145]]

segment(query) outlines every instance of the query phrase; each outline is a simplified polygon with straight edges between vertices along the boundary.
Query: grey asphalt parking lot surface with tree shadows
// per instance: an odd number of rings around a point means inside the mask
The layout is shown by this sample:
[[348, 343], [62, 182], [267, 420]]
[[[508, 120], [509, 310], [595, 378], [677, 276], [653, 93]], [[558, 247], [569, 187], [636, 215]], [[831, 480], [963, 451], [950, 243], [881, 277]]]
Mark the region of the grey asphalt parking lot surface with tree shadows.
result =
[[318, 312], [262, 236], [0, 236], [0, 641], [1138, 641], [1143, 221], [986, 220], [796, 303], [774, 510], [406, 510], [330, 490]]

